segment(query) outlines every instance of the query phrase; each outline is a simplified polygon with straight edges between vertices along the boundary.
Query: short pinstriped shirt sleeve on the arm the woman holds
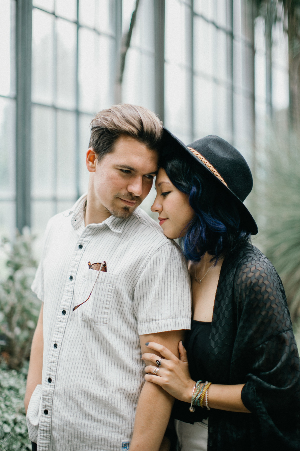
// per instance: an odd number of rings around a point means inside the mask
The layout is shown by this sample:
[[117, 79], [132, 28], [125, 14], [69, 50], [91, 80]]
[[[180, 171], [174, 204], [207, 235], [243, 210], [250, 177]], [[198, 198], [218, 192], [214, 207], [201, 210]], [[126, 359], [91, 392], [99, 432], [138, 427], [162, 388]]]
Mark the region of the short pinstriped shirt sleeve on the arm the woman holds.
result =
[[187, 264], [170, 241], [148, 258], [135, 286], [139, 335], [190, 329], [191, 305]]

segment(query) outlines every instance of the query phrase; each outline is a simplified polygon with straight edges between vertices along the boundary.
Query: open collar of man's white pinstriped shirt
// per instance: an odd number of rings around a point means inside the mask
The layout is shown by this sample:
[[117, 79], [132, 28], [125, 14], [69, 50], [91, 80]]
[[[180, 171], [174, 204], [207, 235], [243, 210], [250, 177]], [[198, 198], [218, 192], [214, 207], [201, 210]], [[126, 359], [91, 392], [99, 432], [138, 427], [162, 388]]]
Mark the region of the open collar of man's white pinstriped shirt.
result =
[[[71, 224], [72, 224], [72, 227], [74, 228], [74, 230], [79, 230], [79, 229], [85, 228], [84, 212], [85, 212], [86, 199], [87, 199], [87, 193], [83, 194], [77, 200], [77, 202], [75, 202], [75, 204], [73, 205], [73, 207], [70, 210], [66, 210], [65, 212], [63, 212], [63, 215], [66, 217], [70, 216], [70, 214], [73, 213], [72, 219], [71, 219]], [[104, 226], [104, 224], [106, 224], [113, 232], [122, 233], [127, 220], [128, 219], [116, 218], [116, 216], [111, 215], [105, 221], [103, 221], [99, 224], [94, 224], [94, 226], [102, 227], [102, 226]]]

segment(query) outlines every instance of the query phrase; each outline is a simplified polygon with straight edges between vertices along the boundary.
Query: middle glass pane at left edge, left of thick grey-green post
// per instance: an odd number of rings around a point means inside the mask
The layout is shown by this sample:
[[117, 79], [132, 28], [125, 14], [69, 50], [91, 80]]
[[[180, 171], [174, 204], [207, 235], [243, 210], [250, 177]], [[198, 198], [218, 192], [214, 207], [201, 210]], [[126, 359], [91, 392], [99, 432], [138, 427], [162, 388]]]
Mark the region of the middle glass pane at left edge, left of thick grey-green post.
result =
[[0, 97], [0, 198], [15, 196], [15, 101]]

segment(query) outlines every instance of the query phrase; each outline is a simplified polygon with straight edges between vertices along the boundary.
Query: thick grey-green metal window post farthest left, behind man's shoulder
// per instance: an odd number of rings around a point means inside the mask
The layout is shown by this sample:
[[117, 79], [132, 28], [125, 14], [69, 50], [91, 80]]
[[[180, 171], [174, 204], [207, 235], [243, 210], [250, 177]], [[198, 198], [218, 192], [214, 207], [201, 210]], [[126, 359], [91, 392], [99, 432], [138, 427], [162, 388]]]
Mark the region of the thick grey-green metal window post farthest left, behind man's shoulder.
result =
[[31, 224], [32, 0], [18, 0], [16, 23], [16, 218], [22, 231]]

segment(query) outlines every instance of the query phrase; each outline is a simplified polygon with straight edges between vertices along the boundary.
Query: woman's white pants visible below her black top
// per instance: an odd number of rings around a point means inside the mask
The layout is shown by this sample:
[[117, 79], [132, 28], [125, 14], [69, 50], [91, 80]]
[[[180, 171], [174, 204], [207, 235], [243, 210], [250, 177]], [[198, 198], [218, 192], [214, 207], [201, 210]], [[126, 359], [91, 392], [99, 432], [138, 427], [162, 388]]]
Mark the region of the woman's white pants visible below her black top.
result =
[[194, 424], [175, 420], [177, 451], [207, 451], [207, 425], [208, 420]]

